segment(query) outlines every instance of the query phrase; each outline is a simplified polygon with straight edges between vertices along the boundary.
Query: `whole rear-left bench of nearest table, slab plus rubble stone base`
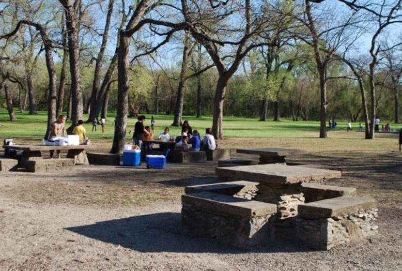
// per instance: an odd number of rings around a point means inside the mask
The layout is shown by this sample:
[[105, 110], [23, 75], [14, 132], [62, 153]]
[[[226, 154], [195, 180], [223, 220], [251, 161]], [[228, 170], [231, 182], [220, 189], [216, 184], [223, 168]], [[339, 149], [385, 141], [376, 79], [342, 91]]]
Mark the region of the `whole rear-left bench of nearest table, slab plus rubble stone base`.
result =
[[211, 184], [186, 186], [184, 192], [193, 194], [199, 192], [211, 192], [227, 196], [246, 198], [248, 200], [256, 196], [258, 182], [252, 181], [228, 181]]

